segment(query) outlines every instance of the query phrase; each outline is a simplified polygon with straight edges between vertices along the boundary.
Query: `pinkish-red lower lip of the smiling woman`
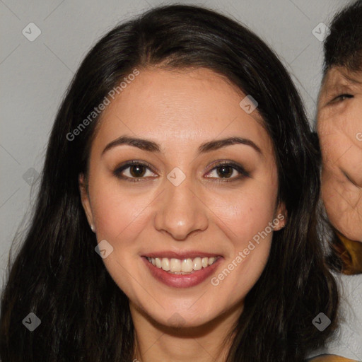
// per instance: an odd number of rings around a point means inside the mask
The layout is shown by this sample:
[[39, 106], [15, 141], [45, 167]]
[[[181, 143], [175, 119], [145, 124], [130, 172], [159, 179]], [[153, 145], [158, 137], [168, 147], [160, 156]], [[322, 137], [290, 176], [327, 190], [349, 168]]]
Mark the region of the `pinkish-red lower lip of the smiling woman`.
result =
[[142, 257], [142, 259], [144, 259], [144, 262], [151, 271], [153, 277], [158, 281], [166, 284], [167, 286], [173, 286], [175, 288], [189, 288], [190, 286], [197, 286], [197, 284], [202, 283], [209, 276], [211, 276], [223, 258], [219, 257], [216, 262], [214, 262], [214, 264], [211, 264], [209, 267], [202, 268], [200, 270], [194, 270], [191, 274], [170, 274], [161, 268], [153, 266], [151, 262], [148, 262], [146, 257]]

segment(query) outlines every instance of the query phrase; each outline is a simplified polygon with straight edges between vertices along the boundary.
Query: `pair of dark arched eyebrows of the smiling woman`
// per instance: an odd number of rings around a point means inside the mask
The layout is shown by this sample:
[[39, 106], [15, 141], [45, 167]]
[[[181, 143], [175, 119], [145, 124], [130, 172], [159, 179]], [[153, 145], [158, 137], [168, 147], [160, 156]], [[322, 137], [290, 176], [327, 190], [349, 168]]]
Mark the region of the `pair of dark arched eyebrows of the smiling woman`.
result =
[[[148, 152], [160, 153], [160, 145], [154, 141], [150, 141], [148, 139], [139, 139], [131, 136], [120, 136], [114, 141], [107, 144], [107, 146], [105, 146], [105, 149], [102, 151], [102, 156], [105, 152], [109, 151], [111, 148], [115, 148], [116, 146], [121, 146], [122, 144], [134, 146]], [[250, 139], [245, 139], [242, 137], [229, 137], [226, 139], [217, 139], [215, 141], [205, 142], [204, 144], [199, 146], [197, 151], [197, 156], [199, 156], [202, 153], [215, 151], [218, 150], [219, 148], [223, 148], [233, 144], [244, 144], [246, 146], [250, 146], [255, 151], [257, 151], [257, 153], [262, 155], [262, 150]]]

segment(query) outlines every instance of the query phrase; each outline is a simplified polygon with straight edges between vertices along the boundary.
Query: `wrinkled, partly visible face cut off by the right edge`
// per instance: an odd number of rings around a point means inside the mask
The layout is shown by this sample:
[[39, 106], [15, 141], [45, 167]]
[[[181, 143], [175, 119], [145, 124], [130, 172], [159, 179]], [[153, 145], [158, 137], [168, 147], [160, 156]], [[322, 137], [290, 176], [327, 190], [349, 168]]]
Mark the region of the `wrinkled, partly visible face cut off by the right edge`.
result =
[[333, 226], [362, 241], [362, 73], [333, 67], [320, 91], [322, 198]]

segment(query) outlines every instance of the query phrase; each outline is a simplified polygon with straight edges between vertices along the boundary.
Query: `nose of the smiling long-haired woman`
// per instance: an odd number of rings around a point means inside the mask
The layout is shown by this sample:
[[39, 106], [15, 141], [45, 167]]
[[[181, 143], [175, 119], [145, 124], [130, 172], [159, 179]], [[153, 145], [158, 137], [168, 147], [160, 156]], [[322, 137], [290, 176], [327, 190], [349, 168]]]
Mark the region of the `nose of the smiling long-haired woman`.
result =
[[208, 208], [190, 181], [186, 177], [178, 186], [171, 182], [166, 185], [154, 219], [156, 230], [165, 231], [178, 241], [185, 240], [190, 233], [206, 230], [209, 223]]

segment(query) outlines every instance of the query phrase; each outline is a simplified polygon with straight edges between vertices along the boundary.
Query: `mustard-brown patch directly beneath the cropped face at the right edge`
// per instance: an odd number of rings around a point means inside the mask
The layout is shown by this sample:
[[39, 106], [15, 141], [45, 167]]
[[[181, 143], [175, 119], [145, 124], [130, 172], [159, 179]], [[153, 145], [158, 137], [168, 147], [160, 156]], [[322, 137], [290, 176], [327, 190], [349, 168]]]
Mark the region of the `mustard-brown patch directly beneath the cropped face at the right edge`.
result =
[[344, 262], [342, 269], [343, 274], [353, 275], [362, 273], [362, 243], [359, 241], [349, 240], [335, 230], [339, 240], [345, 250], [341, 250], [341, 259]]

